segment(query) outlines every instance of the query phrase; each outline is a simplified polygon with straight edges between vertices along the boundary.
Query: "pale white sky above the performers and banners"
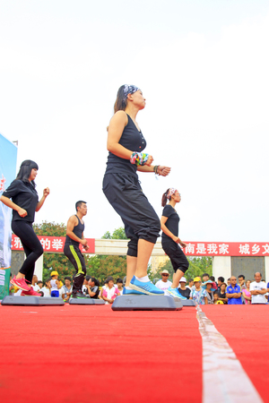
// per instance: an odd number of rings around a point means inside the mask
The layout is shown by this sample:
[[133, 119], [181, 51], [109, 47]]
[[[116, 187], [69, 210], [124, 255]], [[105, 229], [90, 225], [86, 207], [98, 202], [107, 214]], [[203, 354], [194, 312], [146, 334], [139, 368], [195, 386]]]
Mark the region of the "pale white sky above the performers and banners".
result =
[[0, 0], [0, 133], [50, 188], [36, 222], [88, 203], [86, 237], [122, 221], [102, 193], [117, 90], [134, 84], [154, 165], [182, 201], [187, 242], [269, 241], [269, 3], [262, 0]]

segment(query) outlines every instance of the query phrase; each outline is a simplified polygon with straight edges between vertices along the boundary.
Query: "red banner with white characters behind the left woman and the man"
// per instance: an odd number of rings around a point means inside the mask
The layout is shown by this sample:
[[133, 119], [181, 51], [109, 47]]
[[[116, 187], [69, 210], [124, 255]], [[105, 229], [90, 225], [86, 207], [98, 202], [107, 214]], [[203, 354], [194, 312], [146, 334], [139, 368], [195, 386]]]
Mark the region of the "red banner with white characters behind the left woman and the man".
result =
[[[44, 252], [64, 253], [65, 236], [38, 236], [40, 243], [43, 246]], [[94, 253], [95, 252], [95, 239], [86, 238], [89, 249], [85, 251], [80, 244], [82, 253]], [[21, 239], [13, 234], [12, 250], [23, 251]]]

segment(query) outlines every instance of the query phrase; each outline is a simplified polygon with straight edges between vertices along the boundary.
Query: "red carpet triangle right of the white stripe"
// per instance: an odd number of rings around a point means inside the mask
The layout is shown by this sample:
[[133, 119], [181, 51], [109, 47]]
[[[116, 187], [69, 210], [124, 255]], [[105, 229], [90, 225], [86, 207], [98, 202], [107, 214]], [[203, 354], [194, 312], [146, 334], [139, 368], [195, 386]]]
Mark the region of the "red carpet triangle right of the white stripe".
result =
[[204, 305], [202, 311], [227, 339], [261, 398], [269, 402], [269, 306]]

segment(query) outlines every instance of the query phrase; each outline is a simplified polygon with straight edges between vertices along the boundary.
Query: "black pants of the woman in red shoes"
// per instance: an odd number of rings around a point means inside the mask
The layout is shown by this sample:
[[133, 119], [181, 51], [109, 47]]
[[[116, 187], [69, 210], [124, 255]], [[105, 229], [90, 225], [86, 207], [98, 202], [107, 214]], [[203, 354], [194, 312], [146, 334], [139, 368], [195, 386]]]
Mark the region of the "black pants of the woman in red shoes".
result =
[[22, 219], [13, 221], [12, 229], [13, 233], [21, 239], [26, 254], [26, 259], [19, 271], [25, 275], [25, 279], [30, 281], [31, 284], [35, 270], [35, 262], [39, 259], [41, 254], [43, 254], [43, 247], [32, 228], [31, 222], [23, 221]]

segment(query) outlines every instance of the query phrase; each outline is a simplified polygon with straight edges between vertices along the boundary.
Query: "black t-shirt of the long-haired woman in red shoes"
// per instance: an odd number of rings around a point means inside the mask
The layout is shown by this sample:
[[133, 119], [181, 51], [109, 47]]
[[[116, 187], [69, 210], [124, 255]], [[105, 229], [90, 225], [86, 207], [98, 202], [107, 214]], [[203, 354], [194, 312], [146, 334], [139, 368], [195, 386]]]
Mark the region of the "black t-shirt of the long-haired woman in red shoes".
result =
[[13, 203], [27, 211], [27, 216], [21, 217], [18, 211], [13, 210], [13, 221], [34, 222], [39, 195], [30, 182], [22, 182], [20, 179], [15, 179], [2, 195], [12, 199]]

